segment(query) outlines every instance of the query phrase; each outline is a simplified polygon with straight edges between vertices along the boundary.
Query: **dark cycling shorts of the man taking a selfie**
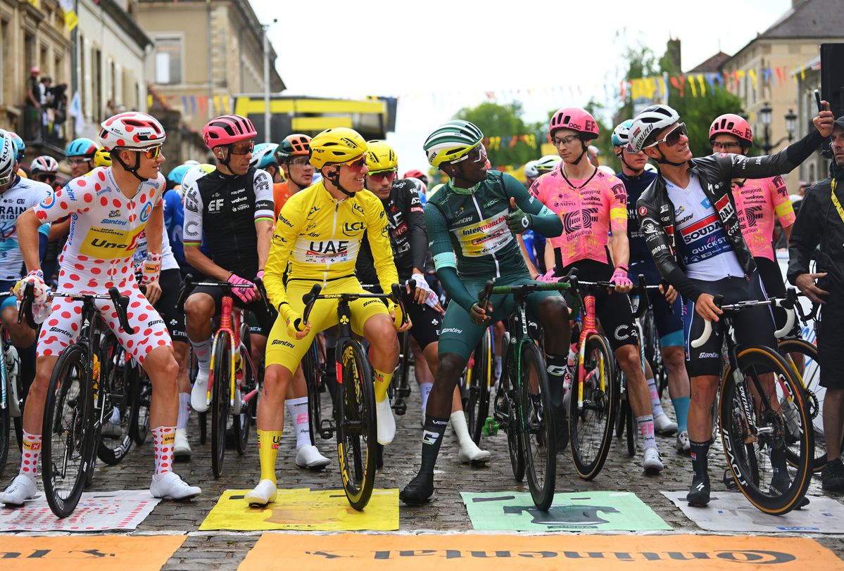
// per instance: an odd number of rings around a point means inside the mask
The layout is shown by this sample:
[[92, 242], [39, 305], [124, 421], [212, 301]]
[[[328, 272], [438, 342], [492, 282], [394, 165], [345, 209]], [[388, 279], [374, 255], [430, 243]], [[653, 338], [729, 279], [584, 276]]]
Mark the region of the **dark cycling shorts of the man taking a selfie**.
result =
[[[724, 304], [734, 304], [738, 301], [751, 299], [767, 299], [762, 289], [759, 274], [753, 272], [749, 280], [744, 277], [724, 277], [715, 282], [693, 279], [692, 282], [706, 294], [724, 296]], [[706, 321], [695, 311], [695, 300], [686, 299], [683, 310], [684, 339], [686, 353], [686, 370], [690, 377], [702, 374], [718, 376], [721, 374], [721, 347], [723, 331], [721, 327], [712, 324], [712, 334], [701, 347], [691, 347], [690, 341], [701, 337]], [[776, 349], [774, 337], [774, 319], [771, 308], [760, 305], [733, 314], [733, 326], [736, 331], [736, 341], [745, 346], [765, 345]]]

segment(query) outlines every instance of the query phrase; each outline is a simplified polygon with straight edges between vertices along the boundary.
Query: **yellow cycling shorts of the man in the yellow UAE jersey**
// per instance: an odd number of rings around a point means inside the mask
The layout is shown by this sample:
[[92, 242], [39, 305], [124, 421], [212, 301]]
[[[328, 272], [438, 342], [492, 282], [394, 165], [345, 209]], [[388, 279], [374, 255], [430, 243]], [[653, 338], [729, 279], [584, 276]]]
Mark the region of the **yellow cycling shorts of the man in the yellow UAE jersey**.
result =
[[[305, 304], [302, 296], [311, 291], [314, 283], [311, 280], [296, 279], [287, 283], [287, 299], [290, 308], [300, 315], [305, 312]], [[354, 294], [367, 293], [354, 276], [344, 277], [332, 282], [327, 282], [322, 288], [322, 294]], [[311, 323], [311, 330], [302, 339], [291, 337], [287, 332], [287, 324], [282, 319], [277, 319], [270, 331], [267, 340], [267, 355], [265, 363], [269, 365], [283, 365], [291, 373], [299, 367], [302, 357], [305, 356], [308, 347], [318, 332], [338, 324], [337, 299], [317, 299], [308, 321]], [[357, 335], [363, 335], [364, 324], [373, 315], [386, 315], [390, 317], [381, 299], [360, 298], [349, 302], [349, 309], [352, 314], [352, 331]], [[392, 321], [392, 320], [391, 320]]]

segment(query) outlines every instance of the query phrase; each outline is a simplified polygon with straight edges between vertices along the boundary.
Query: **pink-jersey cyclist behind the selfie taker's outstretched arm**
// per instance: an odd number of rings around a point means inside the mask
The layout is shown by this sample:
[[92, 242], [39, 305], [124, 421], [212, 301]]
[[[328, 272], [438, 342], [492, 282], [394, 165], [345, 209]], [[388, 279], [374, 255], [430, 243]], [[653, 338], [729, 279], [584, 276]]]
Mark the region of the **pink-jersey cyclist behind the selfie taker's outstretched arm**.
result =
[[[728, 113], [712, 121], [709, 143], [713, 153], [747, 155], [753, 145], [753, 131], [744, 118]], [[733, 179], [732, 190], [741, 233], [759, 268], [765, 293], [768, 297], [782, 297], [786, 294], [786, 286], [774, 256], [773, 234], [775, 218], [779, 218], [786, 239], [791, 238], [794, 208], [785, 180], [780, 175], [766, 179]], [[774, 318], [777, 327], [785, 325], [785, 310], [775, 307]]]

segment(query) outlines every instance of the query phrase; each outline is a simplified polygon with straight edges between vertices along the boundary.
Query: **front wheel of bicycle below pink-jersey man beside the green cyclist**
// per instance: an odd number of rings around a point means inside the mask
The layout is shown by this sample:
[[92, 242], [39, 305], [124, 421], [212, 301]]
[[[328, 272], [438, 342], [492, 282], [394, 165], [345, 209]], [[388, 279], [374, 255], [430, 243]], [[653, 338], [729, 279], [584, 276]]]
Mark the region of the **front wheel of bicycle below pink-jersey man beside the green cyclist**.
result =
[[[592, 480], [598, 476], [607, 460], [609, 444], [613, 439], [619, 391], [615, 384], [613, 352], [606, 337], [589, 336], [584, 358], [587, 374], [583, 382], [584, 407], [580, 410], [577, 404], [580, 380], [576, 378], [571, 384], [569, 400], [569, 439], [577, 475], [584, 480]], [[597, 381], [595, 374], [598, 374]], [[599, 388], [602, 374], [604, 391]]]

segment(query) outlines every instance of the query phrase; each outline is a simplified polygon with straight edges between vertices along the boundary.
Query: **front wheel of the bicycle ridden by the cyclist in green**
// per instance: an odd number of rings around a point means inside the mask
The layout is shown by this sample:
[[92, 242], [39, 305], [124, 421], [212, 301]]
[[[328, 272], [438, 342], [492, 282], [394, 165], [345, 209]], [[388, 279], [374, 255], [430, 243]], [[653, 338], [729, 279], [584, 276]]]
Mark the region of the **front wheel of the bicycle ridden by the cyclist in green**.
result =
[[[548, 511], [554, 501], [557, 444], [551, 388], [545, 361], [533, 342], [523, 342], [519, 367], [522, 387], [522, 449], [527, 488], [536, 509]], [[535, 386], [534, 386], [535, 384]]]

